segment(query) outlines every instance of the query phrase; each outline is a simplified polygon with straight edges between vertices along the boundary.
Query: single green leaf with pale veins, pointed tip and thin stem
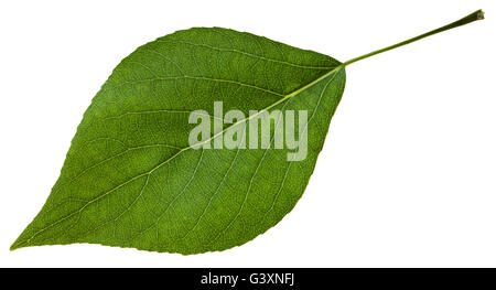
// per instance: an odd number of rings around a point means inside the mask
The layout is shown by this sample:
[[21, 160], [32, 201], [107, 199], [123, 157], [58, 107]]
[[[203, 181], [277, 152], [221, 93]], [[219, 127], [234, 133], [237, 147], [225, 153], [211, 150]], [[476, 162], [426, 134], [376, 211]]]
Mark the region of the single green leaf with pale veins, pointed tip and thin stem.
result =
[[[393, 46], [339, 63], [220, 28], [179, 31], [140, 46], [93, 99], [51, 195], [11, 249], [89, 243], [197, 254], [254, 239], [301, 197], [343, 94], [344, 67]], [[218, 120], [215, 101], [249, 117], [191, 144], [197, 125], [190, 115], [201, 109]], [[289, 161], [294, 150], [273, 142], [204, 148], [274, 110], [308, 111], [308, 122], [296, 126], [296, 136], [308, 135], [303, 160]], [[276, 118], [271, 136], [283, 120]], [[247, 142], [252, 138], [263, 136], [249, 135]]]

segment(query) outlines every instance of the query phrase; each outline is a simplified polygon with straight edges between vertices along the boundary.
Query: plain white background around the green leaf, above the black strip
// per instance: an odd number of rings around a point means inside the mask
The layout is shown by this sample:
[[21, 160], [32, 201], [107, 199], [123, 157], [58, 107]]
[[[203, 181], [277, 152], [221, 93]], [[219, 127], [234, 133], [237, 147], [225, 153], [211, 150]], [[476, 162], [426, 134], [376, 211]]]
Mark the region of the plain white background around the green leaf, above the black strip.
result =
[[[97, 245], [9, 251], [56, 181], [83, 112], [121, 58], [180, 29], [225, 26], [339, 61], [471, 23], [347, 67], [295, 208], [255, 240], [181, 256]], [[494, 1], [3, 1], [0, 266], [496, 267]]]

